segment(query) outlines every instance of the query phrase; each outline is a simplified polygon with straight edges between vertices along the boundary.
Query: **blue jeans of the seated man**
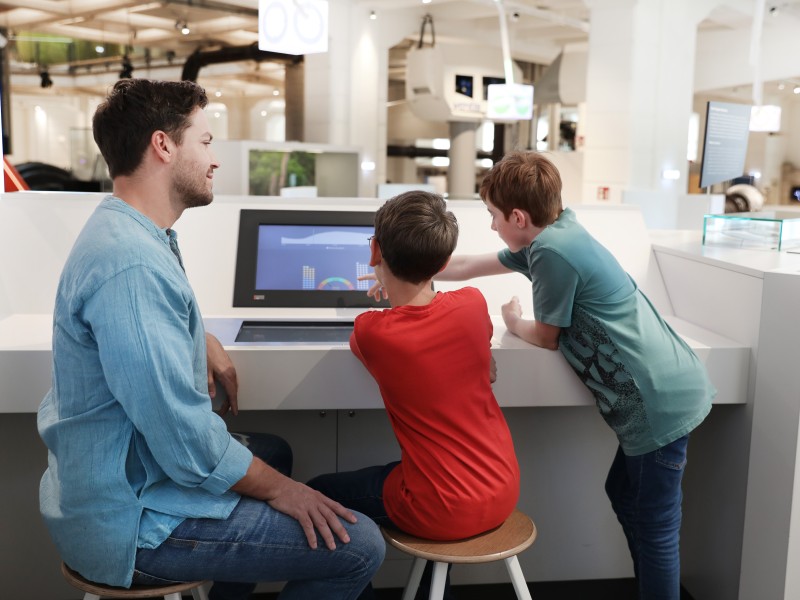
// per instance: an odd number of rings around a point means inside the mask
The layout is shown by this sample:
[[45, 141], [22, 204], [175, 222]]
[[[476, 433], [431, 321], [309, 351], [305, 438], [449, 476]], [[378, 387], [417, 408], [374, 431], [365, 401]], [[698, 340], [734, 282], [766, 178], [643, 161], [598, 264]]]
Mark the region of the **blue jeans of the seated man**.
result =
[[[253, 434], [248, 446], [275, 468], [287, 466], [288, 445]], [[291, 450], [288, 468], [291, 469]], [[212, 600], [245, 600], [259, 581], [287, 581], [281, 600], [353, 600], [383, 562], [379, 529], [364, 515], [344, 523], [350, 543], [331, 551], [318, 537], [312, 550], [300, 524], [266, 502], [242, 497], [227, 519], [186, 519], [158, 547], [139, 549], [133, 582], [211, 579]]]

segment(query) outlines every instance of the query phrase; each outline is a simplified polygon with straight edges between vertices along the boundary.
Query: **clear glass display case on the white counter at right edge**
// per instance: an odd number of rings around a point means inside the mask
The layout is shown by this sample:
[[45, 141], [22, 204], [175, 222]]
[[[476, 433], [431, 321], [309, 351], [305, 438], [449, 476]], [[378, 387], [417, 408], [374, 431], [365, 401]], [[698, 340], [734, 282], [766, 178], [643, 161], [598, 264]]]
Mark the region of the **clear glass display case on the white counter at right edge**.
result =
[[705, 215], [703, 244], [760, 250], [800, 250], [800, 213], [764, 211]]

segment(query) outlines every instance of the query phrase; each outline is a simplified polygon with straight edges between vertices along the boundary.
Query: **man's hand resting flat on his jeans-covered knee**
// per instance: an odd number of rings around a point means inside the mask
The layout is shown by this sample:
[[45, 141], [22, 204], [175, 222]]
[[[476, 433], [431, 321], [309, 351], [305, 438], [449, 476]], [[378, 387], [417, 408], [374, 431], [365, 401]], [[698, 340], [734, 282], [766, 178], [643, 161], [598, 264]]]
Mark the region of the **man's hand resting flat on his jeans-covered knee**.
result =
[[330, 550], [336, 549], [334, 535], [345, 544], [350, 541], [350, 536], [339, 517], [349, 523], [355, 523], [355, 515], [338, 502], [305, 484], [288, 477], [284, 478], [275, 496], [268, 499], [267, 503], [275, 510], [297, 519], [311, 548], [317, 547], [317, 532]]

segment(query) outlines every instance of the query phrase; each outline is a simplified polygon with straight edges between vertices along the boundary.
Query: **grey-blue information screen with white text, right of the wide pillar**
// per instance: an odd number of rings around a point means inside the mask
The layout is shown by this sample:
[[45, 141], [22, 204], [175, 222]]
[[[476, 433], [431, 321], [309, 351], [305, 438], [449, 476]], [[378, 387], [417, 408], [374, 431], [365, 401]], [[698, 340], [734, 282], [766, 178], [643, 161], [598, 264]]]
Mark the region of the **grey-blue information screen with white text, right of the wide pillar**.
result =
[[744, 173], [750, 111], [749, 104], [708, 103], [700, 168], [701, 188], [729, 181]]

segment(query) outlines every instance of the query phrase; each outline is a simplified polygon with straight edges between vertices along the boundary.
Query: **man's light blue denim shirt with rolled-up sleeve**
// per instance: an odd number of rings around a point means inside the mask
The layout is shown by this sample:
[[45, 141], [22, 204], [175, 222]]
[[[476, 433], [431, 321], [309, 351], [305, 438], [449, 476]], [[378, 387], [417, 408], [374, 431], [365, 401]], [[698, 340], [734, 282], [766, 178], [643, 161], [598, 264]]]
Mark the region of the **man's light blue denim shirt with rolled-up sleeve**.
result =
[[183, 519], [226, 518], [252, 460], [211, 410], [203, 322], [177, 256], [174, 231], [109, 196], [58, 286], [39, 502], [63, 560], [98, 582], [130, 585], [137, 547]]

